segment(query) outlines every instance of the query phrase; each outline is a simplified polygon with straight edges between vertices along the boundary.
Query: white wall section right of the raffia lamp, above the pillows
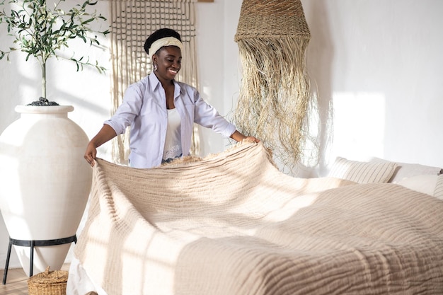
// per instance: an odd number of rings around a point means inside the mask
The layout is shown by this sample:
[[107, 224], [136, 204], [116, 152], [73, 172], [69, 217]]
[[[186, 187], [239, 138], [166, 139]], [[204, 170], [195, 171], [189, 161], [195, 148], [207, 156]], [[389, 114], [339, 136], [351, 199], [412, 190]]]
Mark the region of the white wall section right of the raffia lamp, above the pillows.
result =
[[311, 78], [335, 111], [323, 157], [443, 166], [443, 2], [302, 2]]

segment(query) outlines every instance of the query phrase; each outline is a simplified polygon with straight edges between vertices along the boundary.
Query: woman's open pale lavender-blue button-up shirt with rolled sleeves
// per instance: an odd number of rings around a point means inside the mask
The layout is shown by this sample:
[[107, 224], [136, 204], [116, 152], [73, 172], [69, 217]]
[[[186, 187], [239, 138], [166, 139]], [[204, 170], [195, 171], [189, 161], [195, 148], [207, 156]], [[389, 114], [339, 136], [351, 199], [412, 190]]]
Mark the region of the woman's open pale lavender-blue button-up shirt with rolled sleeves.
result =
[[[190, 152], [193, 123], [210, 128], [230, 137], [236, 127], [224, 119], [217, 110], [205, 103], [197, 89], [174, 81], [174, 104], [181, 121], [181, 146], [183, 155]], [[130, 129], [130, 163], [134, 168], [151, 168], [161, 164], [168, 127], [166, 96], [154, 73], [130, 85], [122, 105], [115, 115], [105, 121], [122, 134]]]

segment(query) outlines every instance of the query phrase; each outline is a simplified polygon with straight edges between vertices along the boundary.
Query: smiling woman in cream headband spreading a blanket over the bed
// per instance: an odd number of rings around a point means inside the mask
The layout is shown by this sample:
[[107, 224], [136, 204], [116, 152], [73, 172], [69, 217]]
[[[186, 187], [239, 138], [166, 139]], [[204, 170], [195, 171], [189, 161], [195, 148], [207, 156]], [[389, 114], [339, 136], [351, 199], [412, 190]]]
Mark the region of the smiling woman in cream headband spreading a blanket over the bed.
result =
[[130, 132], [130, 166], [151, 168], [190, 152], [192, 125], [197, 123], [236, 141], [246, 137], [205, 103], [197, 89], [175, 81], [181, 68], [180, 35], [168, 28], [156, 30], [144, 43], [154, 71], [127, 88], [123, 103], [91, 139], [84, 158], [94, 165], [97, 147]]

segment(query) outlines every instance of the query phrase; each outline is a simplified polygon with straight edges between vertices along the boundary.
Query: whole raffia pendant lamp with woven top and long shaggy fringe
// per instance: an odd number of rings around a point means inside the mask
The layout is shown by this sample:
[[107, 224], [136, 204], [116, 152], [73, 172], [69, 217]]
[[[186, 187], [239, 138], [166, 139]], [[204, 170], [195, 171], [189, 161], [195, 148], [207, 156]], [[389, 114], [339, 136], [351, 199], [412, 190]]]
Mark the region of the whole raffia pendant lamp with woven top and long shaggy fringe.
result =
[[299, 161], [307, 136], [310, 39], [301, 1], [243, 0], [234, 39], [243, 76], [233, 119], [285, 166]]

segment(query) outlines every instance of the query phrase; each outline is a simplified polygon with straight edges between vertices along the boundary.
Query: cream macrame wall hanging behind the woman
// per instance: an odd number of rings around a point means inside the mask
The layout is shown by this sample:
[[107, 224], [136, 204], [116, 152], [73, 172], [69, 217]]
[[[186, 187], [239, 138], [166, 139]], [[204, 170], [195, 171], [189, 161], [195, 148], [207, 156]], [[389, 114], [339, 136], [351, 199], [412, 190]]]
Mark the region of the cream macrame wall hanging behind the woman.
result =
[[[144, 52], [146, 38], [159, 28], [180, 33], [183, 62], [177, 80], [198, 89], [195, 52], [195, 2], [197, 0], [112, 0], [110, 2], [111, 57], [113, 62], [112, 114], [122, 103], [130, 84], [151, 72], [151, 59]], [[129, 130], [112, 141], [115, 163], [127, 164]], [[197, 127], [194, 128], [191, 154], [199, 151]]]

